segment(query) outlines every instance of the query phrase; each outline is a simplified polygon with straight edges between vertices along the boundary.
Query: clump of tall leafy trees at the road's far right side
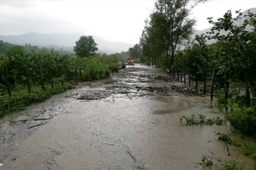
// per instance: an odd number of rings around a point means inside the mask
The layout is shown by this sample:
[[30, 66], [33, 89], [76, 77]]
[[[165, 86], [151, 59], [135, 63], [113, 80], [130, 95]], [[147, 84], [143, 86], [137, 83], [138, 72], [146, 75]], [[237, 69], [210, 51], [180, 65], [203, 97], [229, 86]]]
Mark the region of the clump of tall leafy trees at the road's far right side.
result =
[[[178, 45], [183, 44], [183, 41], [193, 33], [195, 20], [189, 17], [190, 11], [205, 1], [157, 0], [150, 19], [145, 20], [140, 37], [141, 62], [171, 69]], [[135, 49], [135, 46], [130, 49], [132, 56], [136, 56]]]

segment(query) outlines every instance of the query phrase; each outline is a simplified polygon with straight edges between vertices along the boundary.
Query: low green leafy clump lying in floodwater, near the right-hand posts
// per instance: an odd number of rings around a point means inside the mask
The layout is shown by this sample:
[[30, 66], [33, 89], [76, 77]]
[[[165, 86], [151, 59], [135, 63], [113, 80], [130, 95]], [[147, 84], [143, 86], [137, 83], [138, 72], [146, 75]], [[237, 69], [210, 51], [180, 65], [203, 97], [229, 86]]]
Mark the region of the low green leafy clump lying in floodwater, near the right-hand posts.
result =
[[180, 122], [185, 119], [186, 123], [185, 125], [223, 125], [224, 121], [220, 117], [212, 118], [212, 119], [206, 119], [206, 115], [203, 114], [196, 114], [193, 113], [191, 117], [189, 116], [180, 116]]

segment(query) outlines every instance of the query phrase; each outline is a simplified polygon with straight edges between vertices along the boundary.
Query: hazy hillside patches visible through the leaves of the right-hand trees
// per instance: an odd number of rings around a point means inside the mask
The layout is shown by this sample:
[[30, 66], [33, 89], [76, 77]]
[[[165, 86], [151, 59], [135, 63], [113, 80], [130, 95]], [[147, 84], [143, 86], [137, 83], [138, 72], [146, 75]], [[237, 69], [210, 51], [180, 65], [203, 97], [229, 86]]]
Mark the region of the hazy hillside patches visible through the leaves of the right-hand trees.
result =
[[[253, 14], [256, 14], [256, 8], [250, 8], [250, 9], [247, 9], [246, 11], [243, 11], [242, 12], [242, 16], [244, 16], [245, 14], [247, 14], [247, 11], [250, 10], [250, 12], [252, 12]], [[236, 16], [233, 16], [233, 17], [236, 17]], [[218, 18], [213, 18], [214, 21], [217, 21]], [[244, 18], [245, 19], [245, 18]], [[240, 23], [243, 23], [244, 22], [244, 19], [242, 19], [241, 21], [237, 20], [236, 21], [236, 25], [239, 26]], [[253, 27], [252, 26], [247, 26], [245, 28], [246, 31], [251, 31]], [[207, 28], [207, 29], [204, 29], [204, 30], [196, 30], [195, 33], [192, 35], [192, 39], [195, 38], [195, 35], [198, 34], [198, 35], [201, 35], [201, 34], [206, 34], [206, 32], [209, 32], [210, 30], [212, 29], [212, 27], [210, 28]], [[221, 31], [221, 34], [223, 35], [227, 35], [229, 31]], [[216, 42], [216, 40], [207, 40], [207, 44], [212, 44]]]

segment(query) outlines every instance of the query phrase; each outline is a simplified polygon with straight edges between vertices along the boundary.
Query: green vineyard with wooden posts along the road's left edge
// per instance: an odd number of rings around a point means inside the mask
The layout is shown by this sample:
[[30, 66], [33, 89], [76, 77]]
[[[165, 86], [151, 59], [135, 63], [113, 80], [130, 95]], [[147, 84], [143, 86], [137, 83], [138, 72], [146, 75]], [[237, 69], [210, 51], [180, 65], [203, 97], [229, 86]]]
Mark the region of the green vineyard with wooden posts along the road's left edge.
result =
[[0, 54], [0, 117], [119, 69], [114, 56], [71, 57], [13, 46]]

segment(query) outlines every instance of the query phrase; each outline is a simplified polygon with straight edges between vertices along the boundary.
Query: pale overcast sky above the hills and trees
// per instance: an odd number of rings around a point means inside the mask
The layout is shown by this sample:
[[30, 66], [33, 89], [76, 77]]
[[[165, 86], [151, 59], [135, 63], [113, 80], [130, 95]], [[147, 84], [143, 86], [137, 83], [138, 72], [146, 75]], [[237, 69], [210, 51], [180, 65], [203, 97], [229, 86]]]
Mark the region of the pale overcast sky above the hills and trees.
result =
[[[0, 34], [82, 33], [138, 43], [154, 0], [0, 0]], [[193, 9], [196, 29], [209, 28], [228, 10], [256, 8], [256, 0], [209, 0]]]

